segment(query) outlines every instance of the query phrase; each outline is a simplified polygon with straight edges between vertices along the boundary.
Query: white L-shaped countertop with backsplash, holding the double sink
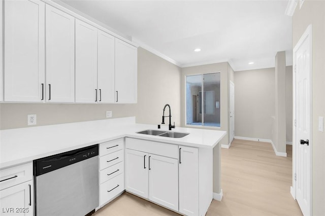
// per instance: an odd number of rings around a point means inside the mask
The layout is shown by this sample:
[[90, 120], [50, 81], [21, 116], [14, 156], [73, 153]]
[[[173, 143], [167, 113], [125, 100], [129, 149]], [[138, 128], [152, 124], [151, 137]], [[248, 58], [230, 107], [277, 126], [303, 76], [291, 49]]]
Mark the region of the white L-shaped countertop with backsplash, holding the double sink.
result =
[[157, 129], [157, 125], [136, 124], [135, 117], [127, 117], [0, 130], [0, 169], [121, 137], [212, 149], [226, 135], [225, 131], [180, 127], [172, 131], [189, 134], [170, 138], [136, 133], [146, 129], [167, 131], [168, 125]]

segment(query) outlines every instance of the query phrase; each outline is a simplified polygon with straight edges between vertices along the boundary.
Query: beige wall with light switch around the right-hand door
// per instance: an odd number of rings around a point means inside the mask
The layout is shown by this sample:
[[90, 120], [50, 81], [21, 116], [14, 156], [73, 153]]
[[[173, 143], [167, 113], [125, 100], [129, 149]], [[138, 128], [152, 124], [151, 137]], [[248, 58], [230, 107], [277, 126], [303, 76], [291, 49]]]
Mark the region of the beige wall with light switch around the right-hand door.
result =
[[312, 24], [312, 214], [325, 212], [325, 133], [318, 131], [318, 117], [325, 117], [325, 2], [305, 0], [293, 15], [293, 48]]

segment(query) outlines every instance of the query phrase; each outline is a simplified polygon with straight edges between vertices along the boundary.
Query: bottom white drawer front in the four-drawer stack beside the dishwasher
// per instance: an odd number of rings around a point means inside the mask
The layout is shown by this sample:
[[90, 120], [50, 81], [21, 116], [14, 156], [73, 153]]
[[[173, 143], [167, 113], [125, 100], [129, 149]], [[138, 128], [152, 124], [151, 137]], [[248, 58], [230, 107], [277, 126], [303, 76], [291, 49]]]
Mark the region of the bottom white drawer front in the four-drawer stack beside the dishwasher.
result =
[[124, 174], [121, 173], [100, 186], [100, 205], [124, 191]]

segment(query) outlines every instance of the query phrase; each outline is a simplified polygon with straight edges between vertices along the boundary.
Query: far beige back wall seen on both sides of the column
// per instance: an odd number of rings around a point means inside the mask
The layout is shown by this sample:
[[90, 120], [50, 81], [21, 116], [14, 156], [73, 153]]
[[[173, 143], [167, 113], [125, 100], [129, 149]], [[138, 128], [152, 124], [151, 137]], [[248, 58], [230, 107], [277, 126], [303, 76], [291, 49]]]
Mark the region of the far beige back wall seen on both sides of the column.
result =
[[[286, 141], [292, 141], [292, 66], [286, 66]], [[275, 68], [235, 72], [235, 135], [272, 139]]]

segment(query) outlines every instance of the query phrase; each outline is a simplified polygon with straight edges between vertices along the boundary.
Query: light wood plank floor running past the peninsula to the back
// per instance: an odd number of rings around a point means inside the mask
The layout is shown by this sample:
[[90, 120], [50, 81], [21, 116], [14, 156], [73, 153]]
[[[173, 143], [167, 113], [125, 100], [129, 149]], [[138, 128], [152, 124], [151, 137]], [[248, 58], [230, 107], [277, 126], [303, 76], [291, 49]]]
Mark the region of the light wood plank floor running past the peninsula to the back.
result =
[[[221, 202], [213, 200], [206, 215], [302, 215], [290, 195], [292, 146], [287, 157], [275, 156], [270, 143], [235, 139], [221, 150]], [[124, 193], [93, 214], [179, 215]]]

